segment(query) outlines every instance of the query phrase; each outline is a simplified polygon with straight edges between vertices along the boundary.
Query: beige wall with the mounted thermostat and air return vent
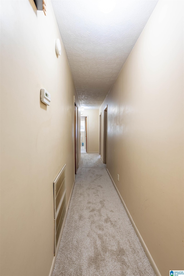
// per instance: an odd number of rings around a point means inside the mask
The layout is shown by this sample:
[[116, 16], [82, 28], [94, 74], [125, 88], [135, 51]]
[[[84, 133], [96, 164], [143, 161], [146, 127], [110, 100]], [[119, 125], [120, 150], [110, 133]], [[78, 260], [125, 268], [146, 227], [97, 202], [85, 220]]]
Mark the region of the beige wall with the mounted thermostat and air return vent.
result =
[[[1, 275], [49, 275], [54, 256], [53, 180], [74, 183], [74, 95], [51, 2], [1, 3]], [[40, 89], [51, 94], [50, 106]], [[79, 114], [80, 118], [80, 114]], [[79, 142], [80, 145], [80, 142]], [[80, 159], [80, 156], [79, 156]]]

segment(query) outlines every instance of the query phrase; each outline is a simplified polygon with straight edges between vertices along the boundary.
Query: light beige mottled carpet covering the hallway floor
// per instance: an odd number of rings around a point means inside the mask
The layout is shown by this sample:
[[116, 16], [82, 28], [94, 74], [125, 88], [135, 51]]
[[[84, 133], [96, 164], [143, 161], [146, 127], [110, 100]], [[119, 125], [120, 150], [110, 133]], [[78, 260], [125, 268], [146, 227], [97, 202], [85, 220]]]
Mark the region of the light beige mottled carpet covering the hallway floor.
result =
[[53, 276], [155, 276], [98, 154], [81, 154]]

